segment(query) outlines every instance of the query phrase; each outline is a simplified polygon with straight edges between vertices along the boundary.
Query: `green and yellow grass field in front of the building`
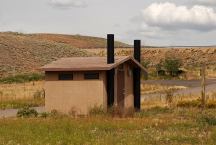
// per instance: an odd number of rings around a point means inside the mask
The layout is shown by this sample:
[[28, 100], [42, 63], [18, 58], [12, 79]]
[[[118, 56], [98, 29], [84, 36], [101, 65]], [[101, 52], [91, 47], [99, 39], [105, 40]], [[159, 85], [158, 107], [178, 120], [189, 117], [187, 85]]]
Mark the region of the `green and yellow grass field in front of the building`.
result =
[[3, 145], [215, 145], [216, 109], [152, 108], [133, 118], [0, 119]]

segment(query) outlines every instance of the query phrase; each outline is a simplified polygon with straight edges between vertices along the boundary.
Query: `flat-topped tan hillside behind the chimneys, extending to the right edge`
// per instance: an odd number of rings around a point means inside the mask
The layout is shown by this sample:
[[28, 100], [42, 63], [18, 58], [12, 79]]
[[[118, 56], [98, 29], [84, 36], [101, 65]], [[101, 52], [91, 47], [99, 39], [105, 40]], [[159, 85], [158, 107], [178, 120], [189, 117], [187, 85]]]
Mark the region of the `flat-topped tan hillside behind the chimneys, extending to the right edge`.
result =
[[[95, 55], [105, 56], [105, 49], [87, 50]], [[116, 55], [133, 55], [132, 48], [118, 48]], [[186, 67], [199, 66], [205, 62], [216, 68], [216, 47], [190, 47], [190, 48], [142, 48], [142, 60], [156, 65], [164, 58], [178, 58]]]

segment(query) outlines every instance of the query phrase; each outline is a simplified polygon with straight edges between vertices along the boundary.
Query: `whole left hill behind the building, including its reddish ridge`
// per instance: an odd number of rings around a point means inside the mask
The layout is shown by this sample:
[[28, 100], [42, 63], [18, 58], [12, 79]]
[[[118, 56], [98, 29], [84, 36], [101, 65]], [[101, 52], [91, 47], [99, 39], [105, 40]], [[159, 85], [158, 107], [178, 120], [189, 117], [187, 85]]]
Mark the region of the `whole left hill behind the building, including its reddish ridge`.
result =
[[[115, 42], [116, 46], [128, 46]], [[106, 47], [103, 38], [60, 35], [0, 33], [0, 77], [37, 72], [42, 65], [61, 57], [90, 56], [81, 48]]]

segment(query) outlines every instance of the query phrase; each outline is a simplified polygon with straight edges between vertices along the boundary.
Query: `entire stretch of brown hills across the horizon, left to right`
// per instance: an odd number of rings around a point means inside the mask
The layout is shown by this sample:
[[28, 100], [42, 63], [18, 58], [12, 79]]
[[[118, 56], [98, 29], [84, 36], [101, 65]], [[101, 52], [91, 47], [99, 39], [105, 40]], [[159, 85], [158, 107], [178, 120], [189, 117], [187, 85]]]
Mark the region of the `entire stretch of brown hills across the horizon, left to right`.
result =
[[[127, 44], [115, 42], [115, 45], [121, 47], [115, 50], [116, 55], [132, 55], [133, 50]], [[0, 33], [0, 77], [38, 72], [39, 67], [61, 57], [105, 56], [105, 47], [105, 39], [89, 36]], [[185, 66], [202, 62], [216, 66], [215, 47], [142, 49], [142, 58], [152, 65], [165, 57], [180, 58]]]

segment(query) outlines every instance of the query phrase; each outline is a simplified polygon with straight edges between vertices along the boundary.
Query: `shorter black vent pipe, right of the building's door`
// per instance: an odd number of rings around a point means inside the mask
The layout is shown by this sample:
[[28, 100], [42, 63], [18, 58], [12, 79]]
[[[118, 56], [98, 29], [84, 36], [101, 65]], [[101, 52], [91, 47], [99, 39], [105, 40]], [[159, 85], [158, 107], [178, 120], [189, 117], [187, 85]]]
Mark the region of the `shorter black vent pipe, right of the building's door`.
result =
[[[134, 40], [134, 58], [140, 62], [141, 54], [141, 41]], [[141, 78], [141, 69], [134, 68], [133, 70], [133, 90], [134, 90], [134, 108], [139, 111], [141, 109], [141, 98], [140, 98], [140, 78]]]

